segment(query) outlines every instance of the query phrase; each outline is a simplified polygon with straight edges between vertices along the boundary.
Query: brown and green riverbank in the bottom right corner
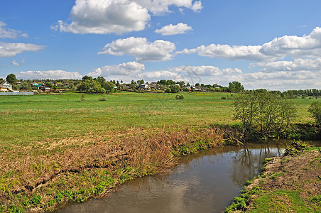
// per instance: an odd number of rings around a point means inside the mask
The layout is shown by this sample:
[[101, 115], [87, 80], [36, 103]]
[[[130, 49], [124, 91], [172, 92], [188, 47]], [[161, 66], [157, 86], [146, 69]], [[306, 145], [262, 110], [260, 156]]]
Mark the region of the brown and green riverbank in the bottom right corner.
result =
[[226, 212], [320, 212], [321, 151], [267, 158]]

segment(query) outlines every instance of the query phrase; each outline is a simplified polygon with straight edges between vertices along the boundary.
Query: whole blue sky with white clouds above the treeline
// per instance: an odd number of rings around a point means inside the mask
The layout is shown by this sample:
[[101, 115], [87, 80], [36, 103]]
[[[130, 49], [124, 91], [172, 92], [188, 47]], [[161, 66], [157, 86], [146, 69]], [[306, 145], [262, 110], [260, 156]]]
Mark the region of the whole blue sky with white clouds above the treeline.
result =
[[321, 89], [320, 0], [1, 0], [0, 77]]

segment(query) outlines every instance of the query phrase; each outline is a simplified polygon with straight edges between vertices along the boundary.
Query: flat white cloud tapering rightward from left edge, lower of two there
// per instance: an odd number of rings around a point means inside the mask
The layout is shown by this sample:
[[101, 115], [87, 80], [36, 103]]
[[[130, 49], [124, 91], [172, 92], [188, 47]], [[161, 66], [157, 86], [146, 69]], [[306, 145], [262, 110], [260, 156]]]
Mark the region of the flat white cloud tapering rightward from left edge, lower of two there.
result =
[[12, 57], [17, 54], [23, 53], [23, 51], [35, 52], [43, 50], [45, 46], [35, 45], [31, 43], [6, 43], [0, 42], [0, 58]]

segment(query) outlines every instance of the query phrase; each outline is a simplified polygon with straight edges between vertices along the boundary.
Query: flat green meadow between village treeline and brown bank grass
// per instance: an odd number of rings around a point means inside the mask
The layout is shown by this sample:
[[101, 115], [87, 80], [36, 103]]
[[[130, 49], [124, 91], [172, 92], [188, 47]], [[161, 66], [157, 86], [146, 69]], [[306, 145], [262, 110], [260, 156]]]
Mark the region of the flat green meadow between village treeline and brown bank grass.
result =
[[[45, 138], [80, 136], [132, 126], [162, 128], [230, 124], [233, 107], [228, 93], [175, 94], [120, 92], [115, 94], [67, 93], [62, 95], [1, 96], [0, 143], [15, 145]], [[235, 95], [235, 94], [234, 94]], [[106, 101], [99, 101], [99, 99]], [[315, 99], [293, 99], [298, 122], [311, 121], [308, 106]]]

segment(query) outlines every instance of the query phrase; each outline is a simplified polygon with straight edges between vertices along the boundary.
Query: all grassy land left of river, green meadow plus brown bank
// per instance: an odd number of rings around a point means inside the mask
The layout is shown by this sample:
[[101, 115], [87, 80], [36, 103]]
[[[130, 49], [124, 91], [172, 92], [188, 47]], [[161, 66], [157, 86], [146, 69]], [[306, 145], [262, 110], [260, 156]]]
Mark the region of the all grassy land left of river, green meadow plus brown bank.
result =
[[[222, 133], [212, 124], [237, 123], [232, 99], [221, 99], [237, 94], [180, 94], [185, 99], [134, 92], [0, 96], [0, 212], [50, 211], [158, 173], [173, 166], [175, 153], [218, 145]], [[315, 99], [293, 102], [295, 122], [311, 122]]]

